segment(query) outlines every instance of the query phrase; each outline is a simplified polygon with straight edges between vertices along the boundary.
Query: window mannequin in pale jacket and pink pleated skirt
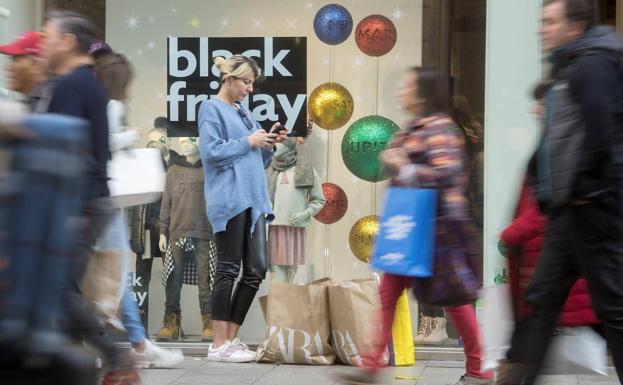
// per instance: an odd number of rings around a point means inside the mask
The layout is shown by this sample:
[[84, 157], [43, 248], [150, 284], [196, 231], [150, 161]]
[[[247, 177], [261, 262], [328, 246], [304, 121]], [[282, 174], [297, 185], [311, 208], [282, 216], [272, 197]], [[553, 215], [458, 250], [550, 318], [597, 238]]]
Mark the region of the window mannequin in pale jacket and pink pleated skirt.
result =
[[318, 173], [312, 168], [305, 139], [277, 144], [266, 170], [275, 220], [268, 230], [268, 255], [272, 279], [294, 283], [298, 266], [306, 262], [305, 229], [324, 206]]

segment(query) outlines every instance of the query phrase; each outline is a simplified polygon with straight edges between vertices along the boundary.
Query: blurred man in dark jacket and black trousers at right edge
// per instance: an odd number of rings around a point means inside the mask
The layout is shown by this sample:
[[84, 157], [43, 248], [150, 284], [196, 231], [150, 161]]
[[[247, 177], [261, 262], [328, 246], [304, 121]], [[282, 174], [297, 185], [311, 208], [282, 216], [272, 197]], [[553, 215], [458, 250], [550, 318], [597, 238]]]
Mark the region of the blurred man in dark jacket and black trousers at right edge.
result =
[[548, 224], [525, 293], [532, 312], [514, 332], [513, 362], [498, 384], [536, 381], [578, 277], [586, 278], [623, 379], [623, 43], [596, 26], [595, 15], [593, 0], [543, 5], [552, 84], [531, 177]]

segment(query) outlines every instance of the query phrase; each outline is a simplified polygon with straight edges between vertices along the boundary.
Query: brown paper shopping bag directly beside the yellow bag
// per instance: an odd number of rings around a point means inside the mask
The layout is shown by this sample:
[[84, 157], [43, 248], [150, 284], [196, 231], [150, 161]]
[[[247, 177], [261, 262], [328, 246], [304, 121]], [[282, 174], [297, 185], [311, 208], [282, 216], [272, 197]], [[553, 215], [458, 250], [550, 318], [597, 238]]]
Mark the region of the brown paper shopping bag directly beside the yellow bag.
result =
[[379, 285], [375, 279], [340, 282], [329, 287], [331, 345], [339, 361], [361, 366], [379, 328]]

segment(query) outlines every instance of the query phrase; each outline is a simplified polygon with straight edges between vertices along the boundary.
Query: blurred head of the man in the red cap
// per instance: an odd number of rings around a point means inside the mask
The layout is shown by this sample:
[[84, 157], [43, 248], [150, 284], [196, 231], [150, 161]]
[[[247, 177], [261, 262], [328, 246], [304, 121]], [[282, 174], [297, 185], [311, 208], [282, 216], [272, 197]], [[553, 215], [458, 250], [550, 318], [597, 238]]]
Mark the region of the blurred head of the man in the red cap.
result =
[[10, 44], [0, 45], [0, 53], [11, 56], [6, 68], [9, 89], [27, 97], [34, 110], [47, 80], [45, 62], [39, 58], [39, 32], [25, 32]]

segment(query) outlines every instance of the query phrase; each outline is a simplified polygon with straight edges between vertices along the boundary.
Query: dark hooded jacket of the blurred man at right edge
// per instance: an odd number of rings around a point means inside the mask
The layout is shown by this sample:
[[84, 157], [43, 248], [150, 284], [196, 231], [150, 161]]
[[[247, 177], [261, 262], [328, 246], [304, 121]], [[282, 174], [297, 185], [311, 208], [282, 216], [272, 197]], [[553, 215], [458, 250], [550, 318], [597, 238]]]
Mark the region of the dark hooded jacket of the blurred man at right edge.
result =
[[[591, 28], [552, 53], [536, 194], [548, 214], [588, 200], [617, 206], [623, 181], [623, 43]], [[620, 210], [618, 207], [617, 210]]]

